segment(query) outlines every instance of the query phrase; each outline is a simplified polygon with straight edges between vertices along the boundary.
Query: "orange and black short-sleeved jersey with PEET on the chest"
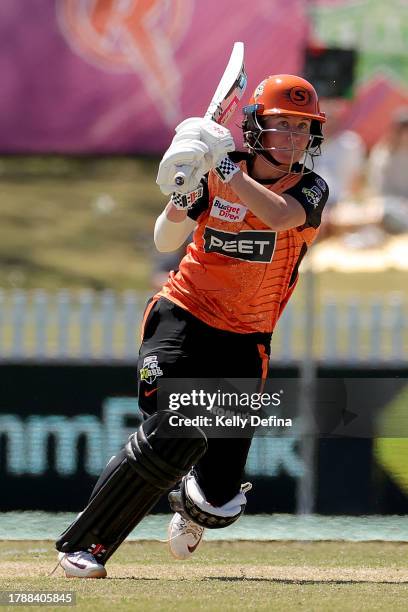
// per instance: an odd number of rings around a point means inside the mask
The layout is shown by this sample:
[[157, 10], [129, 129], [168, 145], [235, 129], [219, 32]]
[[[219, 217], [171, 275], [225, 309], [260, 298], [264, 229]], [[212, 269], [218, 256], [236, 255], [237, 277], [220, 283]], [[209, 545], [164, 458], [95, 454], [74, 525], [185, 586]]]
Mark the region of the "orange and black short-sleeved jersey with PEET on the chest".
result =
[[[247, 154], [231, 154], [247, 172]], [[304, 208], [301, 227], [276, 232], [256, 217], [228, 184], [210, 171], [189, 210], [193, 241], [158, 293], [212, 327], [271, 333], [298, 280], [298, 268], [319, 231], [329, 190], [314, 172], [265, 185]]]

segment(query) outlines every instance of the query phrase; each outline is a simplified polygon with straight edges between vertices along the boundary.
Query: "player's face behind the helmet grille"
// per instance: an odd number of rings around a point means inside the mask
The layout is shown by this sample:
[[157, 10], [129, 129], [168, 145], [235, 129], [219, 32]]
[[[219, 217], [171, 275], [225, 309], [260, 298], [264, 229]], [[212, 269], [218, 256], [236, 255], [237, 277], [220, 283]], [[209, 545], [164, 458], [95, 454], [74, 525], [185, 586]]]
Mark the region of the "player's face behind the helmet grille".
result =
[[281, 164], [297, 162], [309, 144], [310, 125], [311, 120], [307, 117], [269, 116], [264, 129], [270, 131], [263, 133], [263, 146]]

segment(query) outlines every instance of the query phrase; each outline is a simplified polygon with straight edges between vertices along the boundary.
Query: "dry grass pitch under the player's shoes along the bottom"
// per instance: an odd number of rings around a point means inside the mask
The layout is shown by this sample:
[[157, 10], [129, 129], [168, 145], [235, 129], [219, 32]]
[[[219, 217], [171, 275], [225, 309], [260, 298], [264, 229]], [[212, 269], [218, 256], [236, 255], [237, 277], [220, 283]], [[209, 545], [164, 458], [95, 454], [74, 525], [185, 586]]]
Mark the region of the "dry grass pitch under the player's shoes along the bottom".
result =
[[94, 581], [67, 580], [60, 568], [48, 576], [50, 542], [0, 542], [0, 584], [74, 590], [81, 611], [406, 610], [407, 550], [391, 542], [204, 542], [187, 563], [165, 544], [134, 542], [109, 562], [108, 579]]

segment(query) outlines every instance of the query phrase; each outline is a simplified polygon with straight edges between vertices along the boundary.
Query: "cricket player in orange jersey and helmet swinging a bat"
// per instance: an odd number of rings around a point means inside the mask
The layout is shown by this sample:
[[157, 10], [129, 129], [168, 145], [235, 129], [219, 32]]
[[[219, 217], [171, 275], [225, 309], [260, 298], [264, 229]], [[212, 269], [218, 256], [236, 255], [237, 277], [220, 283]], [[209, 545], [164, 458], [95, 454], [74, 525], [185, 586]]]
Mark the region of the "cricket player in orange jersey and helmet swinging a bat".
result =
[[[186, 428], [170, 444], [160, 381], [266, 377], [273, 330], [328, 198], [313, 171], [324, 122], [313, 86], [283, 74], [263, 80], [243, 109], [245, 152], [209, 119], [176, 128], [157, 176], [171, 197], [154, 240], [161, 252], [192, 231], [193, 240], [145, 311], [138, 371], [146, 421], [57, 541], [67, 576], [105, 577], [106, 560], [172, 487], [169, 546], [178, 559], [194, 553], [205, 528], [228, 526], [244, 511], [251, 437], [207, 439]], [[188, 170], [182, 185], [180, 168]]]

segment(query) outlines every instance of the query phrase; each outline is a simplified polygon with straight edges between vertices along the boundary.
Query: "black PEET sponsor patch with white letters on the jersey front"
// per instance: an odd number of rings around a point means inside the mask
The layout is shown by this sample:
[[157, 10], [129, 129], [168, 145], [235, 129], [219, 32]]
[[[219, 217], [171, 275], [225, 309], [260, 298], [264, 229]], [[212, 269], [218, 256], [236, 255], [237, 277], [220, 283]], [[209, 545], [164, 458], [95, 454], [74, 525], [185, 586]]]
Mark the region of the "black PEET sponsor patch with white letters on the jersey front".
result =
[[204, 250], [254, 263], [270, 263], [275, 250], [276, 232], [250, 230], [234, 234], [206, 227]]

